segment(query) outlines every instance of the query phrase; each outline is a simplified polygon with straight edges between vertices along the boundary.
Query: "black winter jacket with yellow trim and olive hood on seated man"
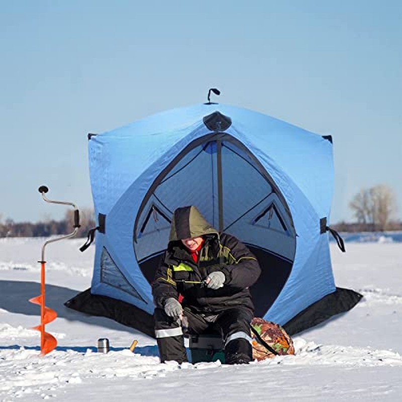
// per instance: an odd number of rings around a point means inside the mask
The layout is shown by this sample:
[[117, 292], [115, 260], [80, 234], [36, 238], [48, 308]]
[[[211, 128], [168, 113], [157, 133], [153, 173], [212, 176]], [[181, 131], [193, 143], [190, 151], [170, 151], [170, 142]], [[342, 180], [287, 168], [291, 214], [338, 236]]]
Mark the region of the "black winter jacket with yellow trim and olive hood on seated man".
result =
[[[235, 306], [254, 310], [248, 288], [261, 272], [255, 256], [234, 236], [219, 235], [195, 207], [179, 210], [173, 217], [170, 242], [152, 284], [155, 306], [163, 308], [168, 297], [177, 299], [181, 294], [183, 306], [198, 313], [215, 314]], [[205, 243], [195, 263], [178, 239], [198, 236], [203, 236]], [[223, 287], [210, 289], [199, 283], [217, 270], [225, 274]]]

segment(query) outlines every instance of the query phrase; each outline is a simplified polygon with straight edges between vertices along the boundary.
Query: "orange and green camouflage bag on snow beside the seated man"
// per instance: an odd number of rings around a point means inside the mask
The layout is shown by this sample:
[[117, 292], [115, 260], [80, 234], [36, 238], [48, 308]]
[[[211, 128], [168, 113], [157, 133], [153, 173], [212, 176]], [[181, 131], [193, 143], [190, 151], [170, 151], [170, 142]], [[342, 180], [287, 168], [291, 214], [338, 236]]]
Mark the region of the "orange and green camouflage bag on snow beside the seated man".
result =
[[262, 318], [253, 318], [251, 336], [253, 359], [260, 361], [276, 355], [294, 355], [292, 339], [278, 324]]

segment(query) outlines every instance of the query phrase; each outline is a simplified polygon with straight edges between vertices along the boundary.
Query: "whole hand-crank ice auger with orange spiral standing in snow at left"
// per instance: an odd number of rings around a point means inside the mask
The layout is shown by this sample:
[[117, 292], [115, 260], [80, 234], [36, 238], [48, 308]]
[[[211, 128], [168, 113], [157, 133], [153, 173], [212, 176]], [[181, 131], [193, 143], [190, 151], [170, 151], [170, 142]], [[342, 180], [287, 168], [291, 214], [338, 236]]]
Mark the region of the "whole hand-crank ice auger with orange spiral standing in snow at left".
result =
[[66, 235], [66, 236], [61, 236], [56, 239], [50, 239], [47, 240], [43, 246], [42, 246], [42, 259], [40, 262], [41, 264], [41, 294], [39, 296], [31, 298], [29, 301], [31, 303], [37, 304], [41, 307], [41, 323], [40, 325], [34, 327], [33, 329], [40, 331], [41, 333], [41, 354], [45, 355], [49, 352], [51, 352], [56, 346], [57, 346], [57, 340], [56, 338], [49, 334], [48, 332], [45, 331], [45, 325], [51, 323], [54, 321], [57, 317], [57, 313], [50, 309], [49, 307], [45, 306], [45, 247], [49, 243], [54, 243], [63, 239], [68, 239], [70, 237], [73, 237], [76, 235], [78, 232], [79, 228], [79, 211], [78, 208], [75, 206], [73, 203], [67, 203], [64, 201], [54, 201], [51, 199], [46, 198], [45, 193], [49, 191], [49, 188], [46, 187], [45, 185], [42, 185], [39, 187], [39, 192], [42, 194], [42, 198], [47, 202], [51, 204], [62, 204], [62, 205], [68, 205], [74, 208], [74, 230], [72, 233]]

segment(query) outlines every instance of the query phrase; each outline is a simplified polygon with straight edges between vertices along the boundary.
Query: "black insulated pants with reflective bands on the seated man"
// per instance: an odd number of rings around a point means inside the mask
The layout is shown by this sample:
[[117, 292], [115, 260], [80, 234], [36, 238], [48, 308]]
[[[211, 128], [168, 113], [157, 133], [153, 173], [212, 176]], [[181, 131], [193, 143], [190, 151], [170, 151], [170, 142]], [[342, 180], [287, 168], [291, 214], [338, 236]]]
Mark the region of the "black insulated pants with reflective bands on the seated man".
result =
[[[250, 322], [253, 312], [245, 307], [222, 310], [218, 314], [197, 314], [184, 308], [188, 334], [221, 334], [225, 345], [226, 364], [248, 363], [252, 360]], [[187, 361], [180, 320], [168, 317], [163, 309], [155, 309], [155, 334], [161, 362]]]

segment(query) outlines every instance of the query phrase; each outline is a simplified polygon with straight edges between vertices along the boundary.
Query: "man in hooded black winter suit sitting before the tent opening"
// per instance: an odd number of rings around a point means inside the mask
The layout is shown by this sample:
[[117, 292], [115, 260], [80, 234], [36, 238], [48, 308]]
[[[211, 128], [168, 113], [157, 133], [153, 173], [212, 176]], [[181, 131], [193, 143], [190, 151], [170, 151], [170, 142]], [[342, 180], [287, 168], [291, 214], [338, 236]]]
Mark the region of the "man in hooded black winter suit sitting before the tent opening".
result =
[[250, 362], [254, 306], [248, 288], [260, 272], [250, 250], [235, 237], [219, 234], [196, 207], [176, 209], [152, 284], [161, 361], [187, 361], [181, 326], [186, 319], [189, 334], [222, 335], [227, 364]]

